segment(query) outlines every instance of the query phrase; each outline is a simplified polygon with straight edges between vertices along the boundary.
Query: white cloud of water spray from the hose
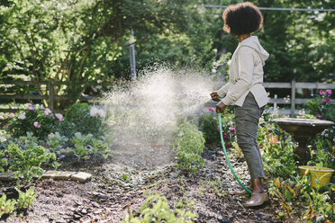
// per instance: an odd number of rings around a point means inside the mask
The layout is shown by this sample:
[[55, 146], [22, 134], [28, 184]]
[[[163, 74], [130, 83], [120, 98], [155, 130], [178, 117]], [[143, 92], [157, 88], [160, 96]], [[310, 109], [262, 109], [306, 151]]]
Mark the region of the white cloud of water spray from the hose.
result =
[[197, 115], [213, 91], [213, 78], [159, 67], [104, 97], [115, 145], [169, 145], [177, 124]]

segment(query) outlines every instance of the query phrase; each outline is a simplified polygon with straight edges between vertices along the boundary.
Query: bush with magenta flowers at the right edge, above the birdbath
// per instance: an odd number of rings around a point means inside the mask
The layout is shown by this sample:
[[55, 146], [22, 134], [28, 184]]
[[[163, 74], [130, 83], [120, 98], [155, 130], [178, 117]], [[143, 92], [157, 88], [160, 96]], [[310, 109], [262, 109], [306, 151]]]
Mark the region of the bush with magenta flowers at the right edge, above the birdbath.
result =
[[330, 104], [331, 90], [321, 90], [315, 98], [305, 103], [306, 112], [320, 120], [335, 120], [335, 107]]

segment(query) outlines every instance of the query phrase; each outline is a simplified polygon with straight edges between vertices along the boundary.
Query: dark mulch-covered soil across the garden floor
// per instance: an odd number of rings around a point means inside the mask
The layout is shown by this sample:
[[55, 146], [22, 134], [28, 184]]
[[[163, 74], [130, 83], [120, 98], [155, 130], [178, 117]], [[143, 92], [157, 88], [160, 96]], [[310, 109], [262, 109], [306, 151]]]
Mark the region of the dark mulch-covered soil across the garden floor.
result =
[[[258, 209], [245, 209], [248, 198], [233, 195], [240, 186], [224, 160], [220, 148], [205, 149], [205, 165], [195, 176], [174, 165], [169, 147], [128, 145], [112, 148], [112, 157], [104, 163], [63, 163], [59, 170], [93, 174], [87, 183], [45, 179], [34, 181], [36, 200], [28, 210], [3, 216], [4, 222], [122, 222], [130, 211], [139, 215], [148, 194], [158, 193], [175, 201], [195, 201], [196, 223], [280, 222], [276, 207], [267, 203]], [[248, 185], [245, 163], [231, 160], [240, 180]], [[2, 183], [0, 194], [11, 196], [15, 183]], [[23, 187], [23, 186], [22, 186]]]

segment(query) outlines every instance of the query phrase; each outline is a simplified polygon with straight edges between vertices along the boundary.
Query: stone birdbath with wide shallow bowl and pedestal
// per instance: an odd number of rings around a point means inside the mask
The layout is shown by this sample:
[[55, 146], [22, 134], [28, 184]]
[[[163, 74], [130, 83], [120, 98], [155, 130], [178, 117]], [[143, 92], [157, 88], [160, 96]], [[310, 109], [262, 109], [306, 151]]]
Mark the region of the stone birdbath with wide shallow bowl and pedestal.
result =
[[311, 152], [307, 147], [308, 138], [314, 138], [324, 129], [335, 125], [330, 120], [278, 118], [271, 121], [276, 122], [280, 128], [290, 133], [298, 143], [298, 146], [294, 148], [294, 154], [297, 155], [294, 156], [294, 160], [299, 161], [299, 165], [303, 165], [311, 159]]

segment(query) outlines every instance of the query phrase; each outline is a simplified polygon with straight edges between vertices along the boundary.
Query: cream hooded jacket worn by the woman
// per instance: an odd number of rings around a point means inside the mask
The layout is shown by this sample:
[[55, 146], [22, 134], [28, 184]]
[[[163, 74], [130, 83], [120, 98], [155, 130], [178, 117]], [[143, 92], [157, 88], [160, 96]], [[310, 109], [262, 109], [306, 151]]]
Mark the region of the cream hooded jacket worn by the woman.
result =
[[257, 36], [250, 36], [239, 43], [231, 57], [229, 68], [229, 82], [223, 85], [217, 93], [226, 105], [242, 106], [244, 100], [251, 92], [259, 108], [268, 103], [267, 92], [263, 83], [263, 66], [268, 53], [262, 48]]

